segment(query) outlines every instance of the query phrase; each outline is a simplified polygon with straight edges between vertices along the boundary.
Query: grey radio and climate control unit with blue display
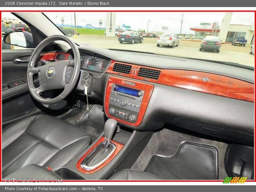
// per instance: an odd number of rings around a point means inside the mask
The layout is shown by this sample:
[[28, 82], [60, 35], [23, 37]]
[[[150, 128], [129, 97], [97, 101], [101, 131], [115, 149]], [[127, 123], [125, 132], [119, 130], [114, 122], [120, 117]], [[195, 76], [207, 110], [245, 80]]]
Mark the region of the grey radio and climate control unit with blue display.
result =
[[127, 122], [136, 122], [143, 95], [144, 91], [112, 84], [108, 114]]

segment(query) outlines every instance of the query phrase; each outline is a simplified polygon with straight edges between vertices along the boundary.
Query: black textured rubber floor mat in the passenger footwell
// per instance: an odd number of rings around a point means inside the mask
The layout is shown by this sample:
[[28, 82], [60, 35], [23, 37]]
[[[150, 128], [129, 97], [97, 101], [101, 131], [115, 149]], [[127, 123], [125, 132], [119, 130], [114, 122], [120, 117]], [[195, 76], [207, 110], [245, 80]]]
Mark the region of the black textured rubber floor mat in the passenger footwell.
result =
[[183, 141], [172, 156], [153, 155], [144, 171], [164, 180], [217, 180], [218, 167], [217, 148]]

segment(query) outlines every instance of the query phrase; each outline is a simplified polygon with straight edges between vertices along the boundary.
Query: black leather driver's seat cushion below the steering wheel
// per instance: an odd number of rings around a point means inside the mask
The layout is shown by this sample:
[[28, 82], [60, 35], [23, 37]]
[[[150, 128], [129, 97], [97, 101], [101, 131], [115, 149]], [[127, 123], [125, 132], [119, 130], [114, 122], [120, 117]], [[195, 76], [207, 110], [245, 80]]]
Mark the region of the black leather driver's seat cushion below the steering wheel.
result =
[[29, 164], [57, 170], [91, 143], [91, 137], [68, 122], [46, 115], [15, 122], [2, 134], [2, 177]]

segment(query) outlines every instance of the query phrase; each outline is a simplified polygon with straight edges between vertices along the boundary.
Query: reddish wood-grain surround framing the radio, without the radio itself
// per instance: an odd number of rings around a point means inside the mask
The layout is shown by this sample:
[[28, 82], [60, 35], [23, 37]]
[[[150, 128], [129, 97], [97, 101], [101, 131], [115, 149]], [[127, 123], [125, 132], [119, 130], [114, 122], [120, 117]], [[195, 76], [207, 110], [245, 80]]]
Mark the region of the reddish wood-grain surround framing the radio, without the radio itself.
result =
[[[125, 81], [134, 83], [135, 85], [126, 84]], [[141, 104], [140, 104], [139, 115], [137, 117], [136, 122], [130, 123], [130, 122], [124, 121], [122, 119], [118, 119], [115, 116], [109, 115], [108, 106], [109, 106], [109, 99], [110, 99], [111, 88], [112, 88], [113, 83], [145, 91], [144, 95], [143, 95], [143, 98], [142, 98], [142, 101], [141, 101]], [[151, 85], [151, 84], [142, 83], [142, 82], [139, 82], [139, 81], [133, 81], [133, 80], [130, 80], [130, 79], [125, 79], [125, 78], [120, 78], [120, 77], [115, 77], [115, 76], [110, 76], [108, 78], [108, 83], [107, 83], [106, 92], [105, 92], [104, 107], [105, 107], [106, 115], [109, 118], [115, 119], [116, 121], [119, 121], [121, 123], [128, 124], [128, 125], [131, 125], [131, 126], [138, 126], [141, 123], [141, 121], [142, 121], [142, 119], [145, 115], [146, 109], [148, 107], [148, 102], [150, 100], [153, 89], [154, 89], [154, 85]]]

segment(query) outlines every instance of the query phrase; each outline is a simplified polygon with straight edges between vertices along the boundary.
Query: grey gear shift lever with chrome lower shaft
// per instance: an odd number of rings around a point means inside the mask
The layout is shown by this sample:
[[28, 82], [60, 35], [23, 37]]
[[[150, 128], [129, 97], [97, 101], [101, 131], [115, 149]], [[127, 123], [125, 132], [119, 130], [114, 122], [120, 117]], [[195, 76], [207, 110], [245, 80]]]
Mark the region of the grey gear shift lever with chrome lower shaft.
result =
[[104, 148], [108, 148], [109, 143], [116, 130], [117, 121], [115, 119], [108, 119], [104, 126]]

